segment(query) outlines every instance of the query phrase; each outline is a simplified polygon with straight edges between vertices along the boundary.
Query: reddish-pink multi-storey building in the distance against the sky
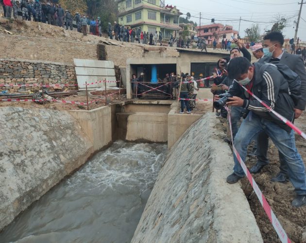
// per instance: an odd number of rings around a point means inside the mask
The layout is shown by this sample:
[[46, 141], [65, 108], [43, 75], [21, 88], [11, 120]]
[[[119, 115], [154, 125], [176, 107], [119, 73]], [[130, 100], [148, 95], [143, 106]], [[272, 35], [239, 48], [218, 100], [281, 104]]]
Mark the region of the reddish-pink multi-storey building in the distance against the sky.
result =
[[222, 41], [222, 39], [232, 40], [232, 36], [237, 38], [238, 31], [233, 29], [231, 25], [223, 25], [223, 24], [209, 24], [202, 25], [197, 27], [197, 34], [200, 38], [205, 38], [208, 40], [208, 44], [211, 44], [214, 39], [217, 40], [215, 36], [218, 36], [218, 43]]

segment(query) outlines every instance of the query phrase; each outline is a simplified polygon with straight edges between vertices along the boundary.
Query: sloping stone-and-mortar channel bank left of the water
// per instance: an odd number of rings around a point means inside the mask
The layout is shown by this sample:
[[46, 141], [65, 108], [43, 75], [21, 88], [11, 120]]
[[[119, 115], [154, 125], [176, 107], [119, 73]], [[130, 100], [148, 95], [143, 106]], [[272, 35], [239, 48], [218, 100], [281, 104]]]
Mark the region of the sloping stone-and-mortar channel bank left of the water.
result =
[[66, 111], [0, 108], [0, 229], [94, 152]]

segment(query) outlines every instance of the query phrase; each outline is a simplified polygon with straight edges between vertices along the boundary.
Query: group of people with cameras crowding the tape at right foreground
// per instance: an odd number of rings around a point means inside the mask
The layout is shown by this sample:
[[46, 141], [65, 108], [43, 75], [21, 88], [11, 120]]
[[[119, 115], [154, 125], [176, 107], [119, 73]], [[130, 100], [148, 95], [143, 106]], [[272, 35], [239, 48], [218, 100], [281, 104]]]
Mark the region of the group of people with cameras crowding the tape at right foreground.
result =
[[[244, 91], [244, 88], [250, 90], [270, 109], [293, 122], [301, 116], [306, 107], [304, 60], [300, 54], [290, 54], [284, 50], [284, 36], [280, 32], [265, 35], [263, 45], [252, 45], [253, 55], [258, 59], [258, 62], [253, 64], [250, 52], [238, 43], [238, 40], [234, 41], [238, 48], [230, 51], [230, 58], [218, 61], [218, 74], [221, 75], [214, 74], [214, 82], [221, 90], [218, 93], [212, 91], [218, 104], [224, 102], [230, 108], [235, 148], [240, 158], [245, 161], [247, 147], [254, 140], [257, 163], [249, 171], [260, 173], [262, 168], [269, 164], [267, 151], [270, 138], [278, 149], [280, 161], [280, 172], [272, 177], [271, 181], [290, 181], [296, 192], [291, 205], [305, 206], [305, 165], [295, 146], [294, 131]], [[222, 113], [223, 117], [226, 117], [225, 109]], [[239, 126], [241, 117], [244, 119]], [[230, 184], [245, 176], [235, 154], [233, 170], [226, 179]]]

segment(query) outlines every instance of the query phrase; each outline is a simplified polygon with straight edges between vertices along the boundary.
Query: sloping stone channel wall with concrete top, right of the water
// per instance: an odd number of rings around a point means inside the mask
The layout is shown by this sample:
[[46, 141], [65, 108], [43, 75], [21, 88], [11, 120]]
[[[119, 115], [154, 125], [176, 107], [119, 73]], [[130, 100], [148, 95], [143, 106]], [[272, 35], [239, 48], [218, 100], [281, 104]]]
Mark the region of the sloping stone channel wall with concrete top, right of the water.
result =
[[140, 242], [263, 242], [232, 172], [213, 113], [195, 122], [171, 148], [135, 231]]

